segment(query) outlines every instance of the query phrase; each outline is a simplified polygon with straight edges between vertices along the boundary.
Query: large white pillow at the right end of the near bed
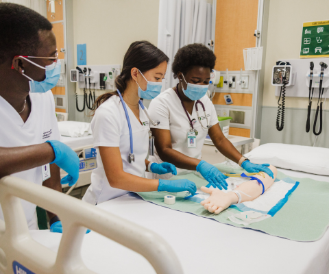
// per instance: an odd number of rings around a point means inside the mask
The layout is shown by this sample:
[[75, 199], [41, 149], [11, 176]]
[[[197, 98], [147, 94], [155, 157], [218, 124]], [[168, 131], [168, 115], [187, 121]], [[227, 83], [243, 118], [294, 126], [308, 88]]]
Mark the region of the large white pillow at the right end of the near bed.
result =
[[329, 175], [329, 149], [300, 145], [265, 144], [245, 154], [255, 164], [269, 163], [282, 169]]

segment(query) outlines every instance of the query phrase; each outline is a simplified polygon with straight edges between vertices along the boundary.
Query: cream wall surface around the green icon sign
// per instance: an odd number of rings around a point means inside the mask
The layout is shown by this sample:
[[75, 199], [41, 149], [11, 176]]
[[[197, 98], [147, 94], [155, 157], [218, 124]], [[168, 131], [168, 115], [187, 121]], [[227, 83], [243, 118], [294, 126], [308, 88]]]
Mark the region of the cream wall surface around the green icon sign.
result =
[[[264, 106], [277, 106], [278, 97], [271, 85], [271, 71], [276, 61], [298, 59], [304, 22], [329, 19], [328, 0], [271, 0], [265, 62]], [[307, 108], [308, 98], [286, 97], [287, 108]], [[326, 104], [329, 109], [329, 104]], [[313, 103], [313, 108], [317, 104]]]

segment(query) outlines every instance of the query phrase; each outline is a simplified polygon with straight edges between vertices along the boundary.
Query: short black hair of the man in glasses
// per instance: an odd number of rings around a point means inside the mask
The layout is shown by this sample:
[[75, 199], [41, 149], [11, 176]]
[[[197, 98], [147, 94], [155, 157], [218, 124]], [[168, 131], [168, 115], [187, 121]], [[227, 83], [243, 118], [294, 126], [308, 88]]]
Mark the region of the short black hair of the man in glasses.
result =
[[53, 25], [41, 14], [14, 3], [0, 3], [0, 64], [15, 55], [35, 55], [40, 30]]

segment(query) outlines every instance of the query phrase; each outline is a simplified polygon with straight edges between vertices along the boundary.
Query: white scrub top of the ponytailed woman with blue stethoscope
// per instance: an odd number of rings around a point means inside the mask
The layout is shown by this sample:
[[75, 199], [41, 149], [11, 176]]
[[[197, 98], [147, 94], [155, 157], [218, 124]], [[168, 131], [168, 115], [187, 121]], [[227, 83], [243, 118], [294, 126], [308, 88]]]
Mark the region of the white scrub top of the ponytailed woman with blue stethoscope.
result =
[[110, 199], [125, 195], [128, 191], [112, 188], [106, 177], [99, 147], [119, 147], [123, 171], [139, 177], [145, 177], [145, 159], [149, 147], [149, 119], [139, 106], [139, 123], [136, 116], [127, 107], [130, 123], [132, 125], [133, 148], [135, 162], [128, 161], [130, 153], [130, 134], [125, 117], [125, 111], [120, 97], [113, 95], [110, 99], [102, 103], [95, 112], [91, 129], [93, 131], [93, 145], [97, 149], [97, 169], [91, 175], [91, 185], [89, 186], [83, 201], [95, 205]]

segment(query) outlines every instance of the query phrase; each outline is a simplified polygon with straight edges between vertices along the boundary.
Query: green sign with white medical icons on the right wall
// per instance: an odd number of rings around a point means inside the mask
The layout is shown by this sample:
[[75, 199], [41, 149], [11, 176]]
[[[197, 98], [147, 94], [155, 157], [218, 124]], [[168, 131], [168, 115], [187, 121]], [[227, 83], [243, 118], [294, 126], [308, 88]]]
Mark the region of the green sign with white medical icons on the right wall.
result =
[[329, 20], [303, 23], [300, 58], [329, 57]]

